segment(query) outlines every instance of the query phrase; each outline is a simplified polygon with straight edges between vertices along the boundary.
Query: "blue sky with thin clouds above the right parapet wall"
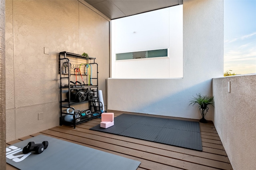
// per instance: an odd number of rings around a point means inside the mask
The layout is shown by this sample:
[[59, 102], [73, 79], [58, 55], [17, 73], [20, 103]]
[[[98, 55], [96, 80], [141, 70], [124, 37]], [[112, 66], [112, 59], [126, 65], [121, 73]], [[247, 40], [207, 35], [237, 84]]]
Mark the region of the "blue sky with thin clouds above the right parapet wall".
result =
[[256, 73], [256, 0], [224, 0], [224, 72]]

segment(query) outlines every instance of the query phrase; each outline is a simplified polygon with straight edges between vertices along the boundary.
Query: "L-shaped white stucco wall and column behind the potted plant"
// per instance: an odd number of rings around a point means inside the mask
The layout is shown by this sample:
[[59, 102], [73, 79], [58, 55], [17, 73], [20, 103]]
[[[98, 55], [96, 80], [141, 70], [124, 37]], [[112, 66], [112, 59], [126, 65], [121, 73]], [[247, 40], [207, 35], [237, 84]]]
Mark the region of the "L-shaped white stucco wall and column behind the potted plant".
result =
[[212, 78], [223, 76], [223, 0], [183, 1], [183, 69], [178, 79], [108, 79], [108, 109], [200, 119], [189, 100], [212, 95]]

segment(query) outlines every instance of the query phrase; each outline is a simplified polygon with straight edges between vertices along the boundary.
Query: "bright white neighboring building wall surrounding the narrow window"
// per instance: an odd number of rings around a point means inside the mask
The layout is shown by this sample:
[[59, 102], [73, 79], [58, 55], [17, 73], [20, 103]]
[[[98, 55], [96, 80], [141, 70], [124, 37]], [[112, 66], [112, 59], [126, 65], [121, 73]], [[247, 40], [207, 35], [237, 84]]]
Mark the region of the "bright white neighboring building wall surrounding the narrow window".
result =
[[[112, 78], [183, 76], [182, 5], [112, 20]], [[116, 53], [168, 48], [169, 58], [116, 61]]]

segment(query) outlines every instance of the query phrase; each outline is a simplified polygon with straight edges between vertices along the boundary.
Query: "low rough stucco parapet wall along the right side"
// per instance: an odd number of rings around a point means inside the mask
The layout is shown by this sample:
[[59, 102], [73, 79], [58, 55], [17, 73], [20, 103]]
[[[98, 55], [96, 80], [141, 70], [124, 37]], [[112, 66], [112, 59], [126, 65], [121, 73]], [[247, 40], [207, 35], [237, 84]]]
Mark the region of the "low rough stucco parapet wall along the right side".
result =
[[214, 125], [233, 169], [255, 170], [256, 74], [213, 79], [213, 94]]

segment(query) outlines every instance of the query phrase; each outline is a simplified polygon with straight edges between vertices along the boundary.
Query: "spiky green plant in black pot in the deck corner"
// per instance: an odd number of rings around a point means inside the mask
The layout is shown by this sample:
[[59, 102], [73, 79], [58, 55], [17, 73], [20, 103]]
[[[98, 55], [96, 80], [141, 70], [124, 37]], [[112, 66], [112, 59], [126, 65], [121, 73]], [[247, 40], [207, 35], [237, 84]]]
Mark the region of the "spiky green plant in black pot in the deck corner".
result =
[[200, 119], [199, 122], [201, 123], [207, 123], [207, 120], [204, 118], [206, 113], [208, 112], [208, 105], [212, 105], [214, 107], [214, 101], [213, 96], [207, 96], [207, 95], [201, 95], [201, 93], [196, 94], [196, 97], [193, 96], [193, 98], [190, 100], [190, 104], [194, 106], [194, 104], [199, 105], [199, 110], [202, 115], [202, 119]]

